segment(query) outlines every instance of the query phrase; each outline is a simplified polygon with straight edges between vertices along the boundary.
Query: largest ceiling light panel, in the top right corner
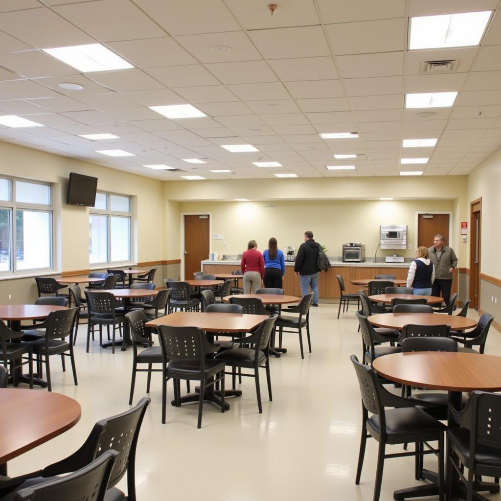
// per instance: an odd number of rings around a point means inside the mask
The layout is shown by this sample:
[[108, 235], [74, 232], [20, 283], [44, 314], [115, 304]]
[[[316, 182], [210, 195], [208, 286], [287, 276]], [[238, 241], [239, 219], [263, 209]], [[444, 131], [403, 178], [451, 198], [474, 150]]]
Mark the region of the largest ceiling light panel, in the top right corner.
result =
[[492, 11], [411, 18], [409, 50], [479, 45]]

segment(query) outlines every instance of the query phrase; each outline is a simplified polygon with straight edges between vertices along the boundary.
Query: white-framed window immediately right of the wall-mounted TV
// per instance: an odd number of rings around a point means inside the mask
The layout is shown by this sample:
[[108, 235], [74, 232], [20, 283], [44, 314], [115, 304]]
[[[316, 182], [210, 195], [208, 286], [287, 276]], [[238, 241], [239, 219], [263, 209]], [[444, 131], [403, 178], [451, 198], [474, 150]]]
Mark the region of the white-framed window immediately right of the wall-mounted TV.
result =
[[[1, 193], [1, 186], [0, 186]], [[131, 202], [126, 195], [98, 192], [89, 214], [89, 263], [130, 261]]]

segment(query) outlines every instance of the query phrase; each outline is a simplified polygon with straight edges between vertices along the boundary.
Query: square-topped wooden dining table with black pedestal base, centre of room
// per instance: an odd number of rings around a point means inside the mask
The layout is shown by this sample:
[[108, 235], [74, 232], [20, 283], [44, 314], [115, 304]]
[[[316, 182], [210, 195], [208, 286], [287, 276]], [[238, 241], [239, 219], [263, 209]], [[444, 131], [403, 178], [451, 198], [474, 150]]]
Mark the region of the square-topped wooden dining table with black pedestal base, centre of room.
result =
[[[160, 325], [169, 325], [171, 327], [198, 327], [205, 331], [209, 342], [213, 341], [214, 333], [245, 333], [258, 327], [268, 315], [245, 315], [241, 313], [205, 313], [205, 312], [175, 312], [163, 317], [146, 322], [145, 326], [157, 328]], [[238, 397], [242, 394], [241, 390], [225, 390], [224, 397]], [[181, 397], [181, 403], [198, 402], [200, 396], [198, 393], [192, 393]], [[213, 385], [205, 389], [204, 400], [215, 403], [221, 407], [219, 392]], [[171, 401], [175, 406], [175, 400]], [[224, 409], [229, 410], [230, 405], [224, 402]]]

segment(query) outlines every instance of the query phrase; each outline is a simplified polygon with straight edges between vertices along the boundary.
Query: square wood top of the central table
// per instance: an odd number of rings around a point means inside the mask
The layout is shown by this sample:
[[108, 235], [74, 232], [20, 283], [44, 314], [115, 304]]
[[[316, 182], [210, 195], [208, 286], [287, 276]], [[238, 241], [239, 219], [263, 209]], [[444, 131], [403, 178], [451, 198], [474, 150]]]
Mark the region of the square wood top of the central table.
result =
[[198, 327], [208, 332], [249, 332], [269, 315], [240, 313], [176, 312], [146, 322], [146, 327], [170, 325], [172, 327]]

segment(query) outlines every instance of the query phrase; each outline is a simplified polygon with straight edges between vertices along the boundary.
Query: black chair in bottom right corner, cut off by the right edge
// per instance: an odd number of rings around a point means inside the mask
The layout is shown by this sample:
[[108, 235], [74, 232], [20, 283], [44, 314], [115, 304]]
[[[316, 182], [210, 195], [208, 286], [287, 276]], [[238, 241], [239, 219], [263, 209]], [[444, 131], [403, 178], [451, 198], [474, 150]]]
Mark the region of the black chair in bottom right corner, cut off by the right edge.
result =
[[[453, 481], [457, 477], [465, 486], [465, 499], [486, 499], [474, 492], [474, 484], [481, 475], [496, 481], [501, 476], [501, 395], [473, 391], [462, 411], [450, 404], [449, 411], [459, 426], [446, 431], [447, 499], [453, 499]], [[463, 467], [468, 468], [467, 477]]]

